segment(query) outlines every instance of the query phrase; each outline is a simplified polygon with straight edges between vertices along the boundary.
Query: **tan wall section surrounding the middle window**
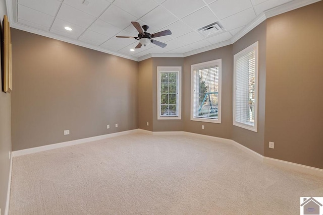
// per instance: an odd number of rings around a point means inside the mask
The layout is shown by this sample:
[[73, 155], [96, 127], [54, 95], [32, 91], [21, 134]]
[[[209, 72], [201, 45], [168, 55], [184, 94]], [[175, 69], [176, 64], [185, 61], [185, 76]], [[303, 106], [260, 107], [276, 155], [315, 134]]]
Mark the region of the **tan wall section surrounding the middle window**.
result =
[[[191, 121], [191, 64], [222, 59], [222, 115], [221, 124]], [[232, 133], [232, 79], [233, 79], [232, 45], [213, 49], [184, 58], [183, 87], [184, 92], [184, 130], [231, 139]], [[204, 130], [201, 129], [204, 125]]]

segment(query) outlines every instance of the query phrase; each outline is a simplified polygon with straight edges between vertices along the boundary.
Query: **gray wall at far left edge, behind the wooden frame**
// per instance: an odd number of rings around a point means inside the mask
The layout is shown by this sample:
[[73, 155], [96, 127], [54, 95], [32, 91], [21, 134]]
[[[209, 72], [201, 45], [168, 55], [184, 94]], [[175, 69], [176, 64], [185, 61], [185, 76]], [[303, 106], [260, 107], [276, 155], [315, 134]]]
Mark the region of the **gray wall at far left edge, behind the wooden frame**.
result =
[[[0, 0], [0, 21], [7, 15], [5, 0]], [[0, 53], [1, 55], [1, 53]], [[2, 74], [2, 73], [1, 73]], [[2, 82], [1, 82], [2, 89]], [[13, 86], [13, 89], [15, 86]], [[0, 92], [0, 208], [5, 214], [11, 152], [11, 95]]]

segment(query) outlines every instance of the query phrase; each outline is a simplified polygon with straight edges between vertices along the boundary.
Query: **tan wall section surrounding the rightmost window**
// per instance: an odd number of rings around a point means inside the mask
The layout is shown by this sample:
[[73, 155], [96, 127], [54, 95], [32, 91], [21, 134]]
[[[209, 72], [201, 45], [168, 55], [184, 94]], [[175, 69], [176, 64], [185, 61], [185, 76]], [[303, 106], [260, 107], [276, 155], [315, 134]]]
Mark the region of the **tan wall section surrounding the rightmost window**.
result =
[[[258, 131], [233, 126], [232, 139], [263, 155], [266, 87], [266, 21], [233, 44], [233, 55], [258, 41]], [[233, 63], [233, 62], [232, 62]], [[232, 123], [231, 123], [232, 124]]]

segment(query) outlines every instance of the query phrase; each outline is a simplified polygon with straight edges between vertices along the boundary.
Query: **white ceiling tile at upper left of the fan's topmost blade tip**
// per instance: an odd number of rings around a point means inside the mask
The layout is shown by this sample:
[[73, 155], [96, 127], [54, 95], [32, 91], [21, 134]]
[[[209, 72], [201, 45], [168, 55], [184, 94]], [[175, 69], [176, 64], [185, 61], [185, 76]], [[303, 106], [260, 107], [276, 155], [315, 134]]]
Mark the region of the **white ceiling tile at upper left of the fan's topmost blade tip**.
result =
[[111, 5], [109, 8], [107, 8], [99, 19], [121, 29], [128, 27], [131, 25], [132, 21], [137, 20], [136, 17], [121, 10], [115, 5]]

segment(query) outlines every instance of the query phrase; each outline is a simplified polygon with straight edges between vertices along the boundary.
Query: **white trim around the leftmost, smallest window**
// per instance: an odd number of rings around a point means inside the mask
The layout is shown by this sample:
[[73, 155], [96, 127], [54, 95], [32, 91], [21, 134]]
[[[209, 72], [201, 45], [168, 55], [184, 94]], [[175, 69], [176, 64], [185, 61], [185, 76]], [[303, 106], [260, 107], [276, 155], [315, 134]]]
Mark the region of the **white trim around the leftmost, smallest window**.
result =
[[[160, 116], [160, 71], [178, 71], [178, 116]], [[157, 66], [157, 120], [182, 119], [182, 66]]]

